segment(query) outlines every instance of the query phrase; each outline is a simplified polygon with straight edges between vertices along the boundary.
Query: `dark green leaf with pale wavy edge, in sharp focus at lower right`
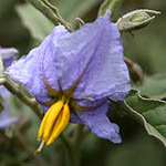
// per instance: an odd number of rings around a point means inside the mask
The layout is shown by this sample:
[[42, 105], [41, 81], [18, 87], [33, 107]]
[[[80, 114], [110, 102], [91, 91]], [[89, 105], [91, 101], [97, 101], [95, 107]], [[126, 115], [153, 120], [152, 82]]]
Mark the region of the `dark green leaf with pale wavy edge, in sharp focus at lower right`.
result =
[[122, 110], [144, 125], [147, 133], [158, 138], [166, 147], [166, 102], [145, 98], [132, 90], [124, 103], [111, 102], [113, 110]]

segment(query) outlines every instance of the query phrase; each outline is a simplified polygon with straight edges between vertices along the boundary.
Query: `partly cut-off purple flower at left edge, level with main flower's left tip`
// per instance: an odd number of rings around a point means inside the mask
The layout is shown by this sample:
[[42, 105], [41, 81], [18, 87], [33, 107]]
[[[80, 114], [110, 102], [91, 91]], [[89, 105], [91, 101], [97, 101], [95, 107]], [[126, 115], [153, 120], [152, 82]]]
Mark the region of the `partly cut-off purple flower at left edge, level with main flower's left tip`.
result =
[[19, 52], [14, 48], [1, 48], [0, 46], [0, 53], [3, 60], [4, 68], [8, 68], [12, 63], [13, 58], [18, 55]]

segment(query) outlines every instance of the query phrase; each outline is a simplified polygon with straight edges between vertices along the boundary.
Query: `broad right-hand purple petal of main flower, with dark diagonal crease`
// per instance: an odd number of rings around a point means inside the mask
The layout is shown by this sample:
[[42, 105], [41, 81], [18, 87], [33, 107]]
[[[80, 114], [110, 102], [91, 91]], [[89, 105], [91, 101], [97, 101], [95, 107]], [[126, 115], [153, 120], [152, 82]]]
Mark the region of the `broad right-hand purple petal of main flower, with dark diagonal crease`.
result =
[[75, 98], [108, 95], [114, 98], [113, 94], [118, 92], [121, 95], [121, 92], [124, 94], [131, 90], [121, 35], [117, 27], [110, 22], [110, 13], [94, 23], [86, 23], [79, 31], [66, 33], [56, 41], [52, 38], [51, 41], [54, 48], [59, 44], [61, 50], [55, 56], [62, 89], [71, 89], [81, 79]]

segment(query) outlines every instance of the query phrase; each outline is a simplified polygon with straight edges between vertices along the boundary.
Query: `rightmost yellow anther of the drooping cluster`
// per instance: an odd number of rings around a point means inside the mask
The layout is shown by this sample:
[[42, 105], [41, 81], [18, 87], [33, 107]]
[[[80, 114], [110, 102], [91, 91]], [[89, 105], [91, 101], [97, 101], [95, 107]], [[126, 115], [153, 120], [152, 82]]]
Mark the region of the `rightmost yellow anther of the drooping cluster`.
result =
[[61, 114], [58, 116], [56, 123], [54, 124], [52, 134], [50, 135], [46, 146], [50, 145], [61, 133], [64, 131], [70, 121], [70, 107], [66, 103], [63, 106]]

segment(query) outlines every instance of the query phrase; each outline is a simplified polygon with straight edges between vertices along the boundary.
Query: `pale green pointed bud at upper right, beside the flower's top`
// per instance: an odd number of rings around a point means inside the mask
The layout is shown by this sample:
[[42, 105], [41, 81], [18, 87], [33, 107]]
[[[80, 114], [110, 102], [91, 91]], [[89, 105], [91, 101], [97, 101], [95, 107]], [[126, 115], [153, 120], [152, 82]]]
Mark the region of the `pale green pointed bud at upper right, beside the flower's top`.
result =
[[160, 14], [160, 12], [148, 9], [135, 10], [120, 18], [116, 25], [121, 32], [134, 31], [146, 27], [157, 14]]

